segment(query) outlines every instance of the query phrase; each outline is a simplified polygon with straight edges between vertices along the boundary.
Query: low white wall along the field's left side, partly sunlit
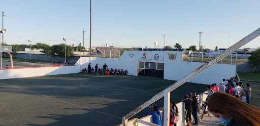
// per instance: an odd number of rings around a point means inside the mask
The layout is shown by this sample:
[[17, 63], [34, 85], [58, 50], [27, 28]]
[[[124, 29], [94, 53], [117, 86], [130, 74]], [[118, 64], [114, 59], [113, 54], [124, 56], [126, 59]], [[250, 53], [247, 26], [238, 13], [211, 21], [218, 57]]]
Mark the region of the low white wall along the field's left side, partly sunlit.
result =
[[0, 79], [69, 74], [80, 72], [80, 66], [0, 69]]

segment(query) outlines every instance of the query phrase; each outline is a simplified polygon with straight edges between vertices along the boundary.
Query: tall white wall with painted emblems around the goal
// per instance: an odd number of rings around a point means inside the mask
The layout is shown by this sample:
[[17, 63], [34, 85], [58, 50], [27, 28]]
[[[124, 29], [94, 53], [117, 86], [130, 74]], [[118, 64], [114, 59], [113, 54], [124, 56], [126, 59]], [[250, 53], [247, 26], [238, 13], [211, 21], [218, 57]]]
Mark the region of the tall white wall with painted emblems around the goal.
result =
[[[134, 54], [134, 53], [135, 54]], [[146, 53], [147, 58], [143, 59], [143, 52]], [[175, 54], [176, 52], [170, 52]], [[134, 57], [131, 58], [130, 55]], [[155, 60], [154, 55], [158, 54], [159, 59]], [[138, 62], [154, 62], [164, 63], [164, 79], [179, 80], [185, 75], [189, 74], [193, 70], [197, 69], [204, 63], [200, 62], [183, 62], [180, 60], [181, 53], [179, 52], [176, 60], [170, 60], [168, 52], [156, 52], [156, 51], [125, 51], [121, 58], [96, 58], [96, 57], [82, 57], [78, 60], [75, 65], [80, 65], [80, 69], [87, 68], [88, 64], [91, 63], [91, 67], [94, 68], [95, 64], [98, 63], [99, 68], [102, 68], [106, 63], [109, 70], [123, 69], [128, 71], [128, 75], [138, 75]], [[236, 75], [236, 66], [229, 64], [214, 64], [212, 67], [203, 71], [201, 74], [193, 77], [188, 82], [203, 83], [206, 85], [212, 83], [219, 83], [223, 78], [230, 78]]]

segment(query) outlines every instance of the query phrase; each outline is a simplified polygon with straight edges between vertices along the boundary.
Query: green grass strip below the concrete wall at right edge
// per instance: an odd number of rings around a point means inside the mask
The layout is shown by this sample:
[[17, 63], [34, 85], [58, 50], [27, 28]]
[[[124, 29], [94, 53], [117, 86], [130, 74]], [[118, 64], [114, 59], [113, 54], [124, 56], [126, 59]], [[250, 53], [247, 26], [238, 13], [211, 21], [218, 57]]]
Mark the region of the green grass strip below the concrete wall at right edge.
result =
[[241, 80], [257, 81], [260, 82], [260, 71], [258, 72], [246, 72], [238, 73]]

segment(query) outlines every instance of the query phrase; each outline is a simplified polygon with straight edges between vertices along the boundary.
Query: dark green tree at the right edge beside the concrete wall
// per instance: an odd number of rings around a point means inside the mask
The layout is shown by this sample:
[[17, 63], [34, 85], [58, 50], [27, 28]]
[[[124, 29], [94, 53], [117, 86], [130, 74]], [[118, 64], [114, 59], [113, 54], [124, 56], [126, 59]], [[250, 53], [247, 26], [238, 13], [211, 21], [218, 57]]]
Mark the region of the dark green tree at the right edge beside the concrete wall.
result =
[[251, 53], [251, 56], [248, 57], [249, 62], [252, 63], [254, 67], [254, 72], [256, 72], [260, 65], [260, 48], [258, 47], [255, 51]]

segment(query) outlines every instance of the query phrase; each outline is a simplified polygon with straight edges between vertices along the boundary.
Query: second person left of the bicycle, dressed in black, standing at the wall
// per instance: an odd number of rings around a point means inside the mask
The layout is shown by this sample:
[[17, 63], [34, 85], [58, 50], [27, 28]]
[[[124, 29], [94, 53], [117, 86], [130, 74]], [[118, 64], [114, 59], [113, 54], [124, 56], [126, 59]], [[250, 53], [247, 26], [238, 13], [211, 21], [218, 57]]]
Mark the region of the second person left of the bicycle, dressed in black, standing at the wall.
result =
[[184, 100], [181, 100], [182, 102], [185, 102], [185, 120], [188, 123], [188, 125], [191, 124], [191, 113], [192, 113], [192, 98], [191, 93], [188, 92], [185, 94]]

